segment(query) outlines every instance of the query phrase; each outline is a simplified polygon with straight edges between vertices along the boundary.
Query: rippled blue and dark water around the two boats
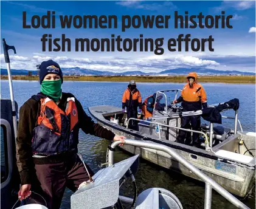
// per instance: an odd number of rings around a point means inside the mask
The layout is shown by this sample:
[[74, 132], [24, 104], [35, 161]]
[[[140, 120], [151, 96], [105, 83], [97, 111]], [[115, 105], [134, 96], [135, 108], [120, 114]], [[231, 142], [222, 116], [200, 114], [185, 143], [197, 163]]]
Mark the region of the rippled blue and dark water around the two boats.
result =
[[[71, 92], [83, 105], [86, 113], [89, 106], [112, 105], [122, 106], [122, 95], [127, 83], [117, 82], [79, 82], [64, 81], [63, 91]], [[182, 89], [183, 83], [137, 83], [144, 101], [148, 95], [157, 90]], [[202, 83], [206, 89], [208, 104], [216, 104], [229, 101], [232, 98], [240, 100], [238, 118], [244, 131], [255, 131], [255, 84], [224, 84], [224, 83]], [[13, 81], [15, 100], [20, 107], [29, 97], [40, 91], [38, 81]], [[8, 81], [1, 80], [1, 97], [10, 98]], [[234, 111], [227, 111], [223, 115], [234, 116]], [[223, 120], [223, 125], [233, 127], [232, 120]], [[86, 135], [80, 132], [79, 150], [82, 152], [86, 163], [96, 173], [100, 168], [97, 162], [105, 162], [107, 140], [99, 137]], [[115, 162], [126, 159], [128, 154], [122, 151], [115, 152]], [[165, 170], [152, 163], [140, 160], [139, 171], [136, 176], [139, 193], [147, 188], [161, 187], [173, 192], [181, 201], [183, 208], [204, 208], [204, 184], [196, 180], [184, 177], [181, 174]], [[122, 194], [133, 196], [131, 184], [126, 183]], [[61, 208], [70, 208], [70, 196], [72, 192], [65, 191]], [[255, 190], [249, 199], [243, 200], [250, 208], [255, 208]], [[224, 197], [213, 191], [212, 208], [235, 208]]]

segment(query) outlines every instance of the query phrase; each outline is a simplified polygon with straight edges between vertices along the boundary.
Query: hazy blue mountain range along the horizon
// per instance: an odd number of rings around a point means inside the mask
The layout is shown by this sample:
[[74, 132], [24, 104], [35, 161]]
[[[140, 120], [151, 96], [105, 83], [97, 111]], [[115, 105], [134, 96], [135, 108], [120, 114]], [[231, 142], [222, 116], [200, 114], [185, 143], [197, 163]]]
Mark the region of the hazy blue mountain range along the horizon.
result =
[[[12, 69], [12, 75], [28, 75], [29, 71], [32, 75], [37, 74], [37, 70], [15, 70]], [[64, 75], [187, 75], [189, 72], [197, 72], [198, 75], [255, 75], [254, 72], [240, 72], [237, 70], [213, 70], [206, 68], [176, 68], [171, 70], [163, 70], [159, 73], [151, 72], [145, 73], [142, 71], [128, 71], [128, 72], [110, 72], [110, 71], [99, 71], [89, 70], [80, 67], [71, 67], [62, 69]], [[7, 69], [1, 69], [1, 75], [8, 75]]]

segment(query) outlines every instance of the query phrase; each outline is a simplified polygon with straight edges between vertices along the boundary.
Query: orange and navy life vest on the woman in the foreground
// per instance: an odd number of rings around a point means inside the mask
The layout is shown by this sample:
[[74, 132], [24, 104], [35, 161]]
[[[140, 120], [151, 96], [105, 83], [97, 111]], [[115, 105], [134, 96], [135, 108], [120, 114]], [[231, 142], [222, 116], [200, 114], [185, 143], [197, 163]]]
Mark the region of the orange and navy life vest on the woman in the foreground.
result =
[[78, 123], [75, 98], [67, 98], [66, 110], [62, 111], [50, 98], [40, 98], [41, 111], [33, 129], [33, 154], [49, 156], [75, 149], [77, 144], [73, 129]]

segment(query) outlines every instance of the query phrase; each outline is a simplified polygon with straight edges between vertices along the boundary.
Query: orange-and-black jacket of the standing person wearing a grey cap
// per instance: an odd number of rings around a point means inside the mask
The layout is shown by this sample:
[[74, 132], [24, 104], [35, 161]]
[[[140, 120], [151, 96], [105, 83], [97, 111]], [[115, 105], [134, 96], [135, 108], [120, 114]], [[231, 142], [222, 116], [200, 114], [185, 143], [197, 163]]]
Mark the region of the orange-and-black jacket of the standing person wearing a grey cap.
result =
[[128, 109], [137, 109], [139, 107], [141, 109], [141, 94], [137, 88], [130, 91], [128, 86], [125, 92], [123, 92], [122, 108], [125, 109], [125, 107]]

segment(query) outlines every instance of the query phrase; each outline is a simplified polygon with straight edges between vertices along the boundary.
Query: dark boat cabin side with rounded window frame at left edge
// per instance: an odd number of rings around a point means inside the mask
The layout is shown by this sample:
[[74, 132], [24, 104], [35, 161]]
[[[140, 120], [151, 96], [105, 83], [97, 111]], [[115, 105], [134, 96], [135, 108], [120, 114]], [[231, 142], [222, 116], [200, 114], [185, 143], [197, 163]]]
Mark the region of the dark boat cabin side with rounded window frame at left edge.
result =
[[[16, 114], [18, 105], [15, 101]], [[19, 191], [11, 100], [1, 99], [1, 206], [12, 208]]]

